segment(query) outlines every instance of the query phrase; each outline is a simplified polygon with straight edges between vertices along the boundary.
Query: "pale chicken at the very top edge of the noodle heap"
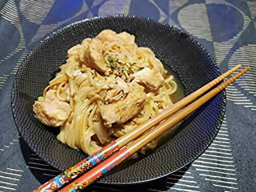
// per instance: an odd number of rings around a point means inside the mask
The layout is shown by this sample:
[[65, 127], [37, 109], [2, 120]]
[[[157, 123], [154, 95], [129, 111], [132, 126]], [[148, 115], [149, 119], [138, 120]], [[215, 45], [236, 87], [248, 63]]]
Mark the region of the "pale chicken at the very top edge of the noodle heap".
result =
[[100, 40], [102, 42], [105, 41], [120, 41], [120, 42], [126, 42], [127, 44], [134, 44], [135, 41], [135, 36], [134, 35], [130, 35], [127, 32], [122, 32], [117, 34], [116, 32], [110, 30], [110, 29], [106, 29], [101, 31], [96, 37], [95, 39]]

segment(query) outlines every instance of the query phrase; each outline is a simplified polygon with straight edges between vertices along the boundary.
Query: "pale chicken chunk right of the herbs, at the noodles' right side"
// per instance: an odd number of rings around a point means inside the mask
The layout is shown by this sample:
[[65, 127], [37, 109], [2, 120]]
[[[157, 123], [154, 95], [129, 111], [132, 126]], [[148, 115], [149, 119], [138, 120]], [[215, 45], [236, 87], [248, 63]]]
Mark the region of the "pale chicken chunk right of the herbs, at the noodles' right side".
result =
[[164, 83], [162, 74], [159, 71], [150, 68], [144, 68], [131, 74], [131, 78], [143, 86], [146, 92], [157, 91]]

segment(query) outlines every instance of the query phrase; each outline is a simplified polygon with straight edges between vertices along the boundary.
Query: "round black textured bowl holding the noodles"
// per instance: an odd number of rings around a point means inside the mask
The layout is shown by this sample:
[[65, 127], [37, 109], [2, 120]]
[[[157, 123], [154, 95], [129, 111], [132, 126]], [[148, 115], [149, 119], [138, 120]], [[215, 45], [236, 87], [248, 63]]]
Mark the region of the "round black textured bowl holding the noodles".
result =
[[[56, 74], [58, 66], [67, 59], [68, 49], [104, 29], [134, 34], [139, 46], [152, 49], [166, 68], [178, 74], [185, 95], [220, 75], [214, 60], [197, 41], [174, 27], [152, 19], [117, 15], [95, 17], [54, 32], [41, 41], [20, 66], [13, 83], [12, 111], [17, 128], [28, 145], [60, 171], [87, 156], [60, 143], [56, 139], [58, 129], [51, 129], [37, 121], [32, 105]], [[195, 160], [216, 136], [224, 116], [225, 101], [225, 92], [222, 91], [186, 118], [172, 139], [144, 157], [120, 164], [99, 182], [132, 184], [150, 181], [173, 173]]]

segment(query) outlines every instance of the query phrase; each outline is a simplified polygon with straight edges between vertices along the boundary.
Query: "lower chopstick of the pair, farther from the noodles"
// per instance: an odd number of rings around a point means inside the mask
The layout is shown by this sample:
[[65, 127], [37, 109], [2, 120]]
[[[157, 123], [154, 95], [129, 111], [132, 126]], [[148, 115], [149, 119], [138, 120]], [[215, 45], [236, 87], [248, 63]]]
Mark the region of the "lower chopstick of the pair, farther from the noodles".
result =
[[145, 146], [147, 143], [156, 139], [166, 130], [168, 130], [173, 125], [177, 124], [183, 118], [185, 118], [190, 113], [194, 112], [200, 106], [202, 106], [205, 102], [210, 100], [212, 97], [220, 93], [225, 87], [227, 87], [230, 83], [232, 83], [237, 78], [241, 77], [244, 73], [250, 70], [250, 67], [246, 67], [240, 73], [232, 76], [227, 81], [221, 83], [217, 88], [211, 90], [198, 100], [186, 106], [184, 109], [175, 113], [174, 115], [168, 117], [163, 123], [158, 124], [154, 129], [146, 132], [141, 137], [137, 138], [133, 143], [127, 145], [126, 147], [121, 148], [118, 152], [112, 155], [110, 158], [106, 159], [103, 163], [97, 165], [89, 172], [76, 179], [73, 183], [68, 186], [60, 189], [59, 191], [81, 191], [83, 188], [87, 187], [94, 181], [96, 181], [102, 175], [108, 173], [111, 169], [116, 167], [119, 163], [129, 158], [132, 154], [136, 153], [140, 150], [141, 147]]

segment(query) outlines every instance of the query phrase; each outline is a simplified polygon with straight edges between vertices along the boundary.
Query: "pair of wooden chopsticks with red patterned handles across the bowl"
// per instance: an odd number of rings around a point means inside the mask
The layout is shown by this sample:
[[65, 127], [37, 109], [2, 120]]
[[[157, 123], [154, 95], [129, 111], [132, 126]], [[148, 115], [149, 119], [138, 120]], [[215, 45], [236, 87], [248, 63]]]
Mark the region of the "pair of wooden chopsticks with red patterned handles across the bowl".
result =
[[[138, 150], [140, 150], [141, 147], [145, 146], [147, 143], [156, 139], [158, 136], [160, 136], [170, 127], [177, 124], [187, 115], [189, 115], [190, 113], [198, 109], [209, 99], [211, 99], [212, 97], [220, 93], [230, 83], [232, 83], [234, 80], [236, 80], [237, 78], [242, 76], [244, 73], [246, 73], [248, 70], [250, 70], [250, 67], [246, 67], [240, 73], [232, 76], [227, 81], [221, 83], [215, 89], [203, 95], [201, 98], [197, 99], [193, 103], [187, 105], [188, 103], [190, 103], [191, 101], [193, 101], [194, 99], [196, 99], [197, 97], [199, 97], [200, 95], [202, 95], [203, 93], [211, 89], [212, 87], [216, 86], [217, 83], [222, 81], [231, 73], [233, 73], [234, 71], [237, 71], [240, 67], [241, 65], [237, 65], [234, 68], [228, 70], [226, 73], [222, 74], [218, 78], [207, 83], [205, 86], [203, 86], [199, 90], [195, 91], [194, 93], [191, 93], [190, 95], [181, 99], [174, 105], [169, 106], [167, 109], [163, 110], [158, 115], [149, 119], [147, 122], [141, 124], [135, 130], [132, 130], [131, 132], [125, 134], [122, 137], [119, 137], [115, 141], [112, 141], [110, 144], [104, 146], [100, 151], [82, 160], [81, 162], [67, 169], [65, 172], [54, 177], [53, 179], [51, 179], [50, 181], [46, 182], [45, 184], [41, 185], [40, 187], [38, 187], [33, 191], [37, 191], [37, 192], [38, 191], [49, 191], [49, 192], [56, 191], [59, 188], [63, 187], [64, 185], [70, 183], [73, 179], [83, 174], [80, 178], [76, 179], [73, 183], [59, 190], [59, 191], [72, 191], [72, 192], [81, 191], [83, 188], [93, 183], [99, 177], [108, 173], [111, 169], [113, 169], [119, 163], [129, 158], [132, 154], [136, 153]], [[184, 106], [186, 107], [183, 108]], [[151, 129], [153, 126], [155, 127]], [[125, 146], [131, 141], [133, 141], [131, 144]], [[114, 152], [116, 153], [112, 155]], [[108, 158], [110, 155], [112, 156]], [[100, 163], [102, 161], [103, 163]]]

